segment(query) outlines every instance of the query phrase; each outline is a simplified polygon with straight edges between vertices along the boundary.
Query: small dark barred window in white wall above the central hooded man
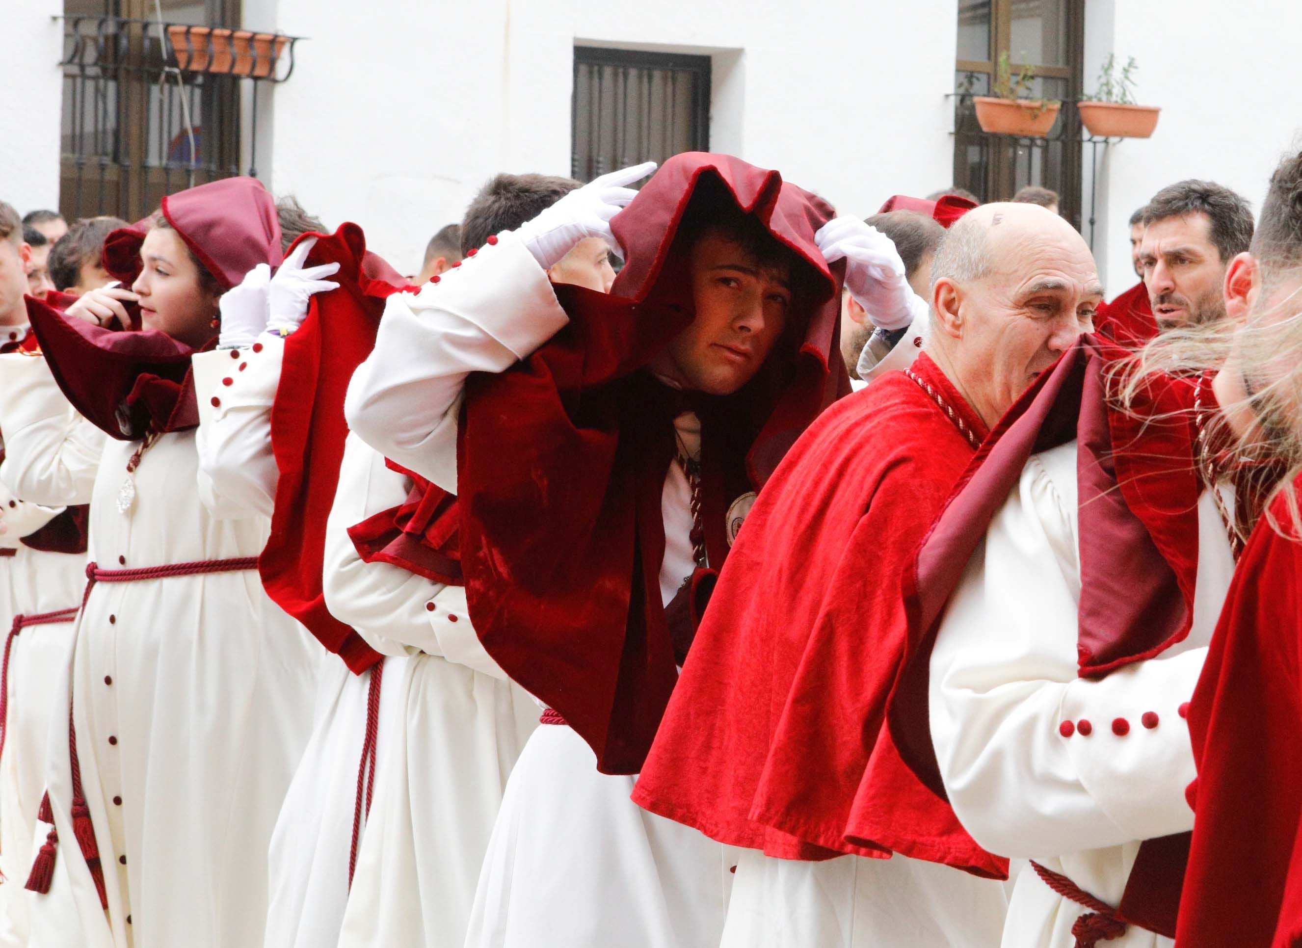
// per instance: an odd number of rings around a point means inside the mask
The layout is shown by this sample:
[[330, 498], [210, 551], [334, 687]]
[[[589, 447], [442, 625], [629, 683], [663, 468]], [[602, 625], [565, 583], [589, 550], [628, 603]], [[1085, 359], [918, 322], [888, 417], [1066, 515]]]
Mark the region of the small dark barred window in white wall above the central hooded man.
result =
[[710, 57], [574, 47], [570, 174], [710, 150]]

